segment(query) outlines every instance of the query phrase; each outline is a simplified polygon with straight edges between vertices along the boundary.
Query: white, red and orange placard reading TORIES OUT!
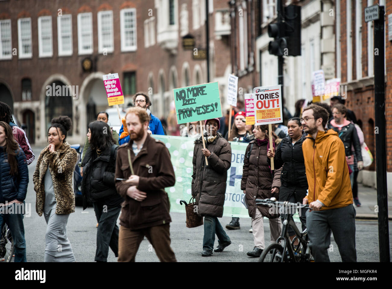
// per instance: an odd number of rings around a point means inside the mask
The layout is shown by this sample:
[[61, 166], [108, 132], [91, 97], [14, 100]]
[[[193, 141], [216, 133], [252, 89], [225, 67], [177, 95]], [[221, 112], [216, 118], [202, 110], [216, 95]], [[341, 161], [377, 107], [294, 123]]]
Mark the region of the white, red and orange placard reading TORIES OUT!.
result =
[[253, 88], [253, 102], [255, 125], [283, 122], [280, 84]]

